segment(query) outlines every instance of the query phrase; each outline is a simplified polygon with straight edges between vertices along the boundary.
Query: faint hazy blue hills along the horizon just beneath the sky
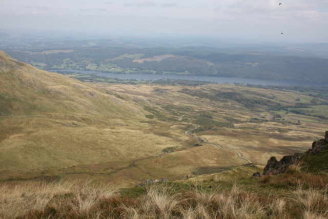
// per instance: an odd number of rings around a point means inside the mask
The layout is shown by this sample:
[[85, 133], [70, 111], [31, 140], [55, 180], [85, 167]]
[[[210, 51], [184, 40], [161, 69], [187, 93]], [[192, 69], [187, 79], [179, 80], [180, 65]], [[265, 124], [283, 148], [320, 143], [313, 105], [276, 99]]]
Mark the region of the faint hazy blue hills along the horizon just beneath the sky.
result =
[[[221, 52], [265, 52], [278, 55], [328, 58], [328, 43], [286, 44], [248, 41], [218, 37], [133, 37], [35, 29], [0, 28], [0, 48], [3, 49], [67, 49], [79, 47], [119, 48], [216, 48]], [[256, 43], [255, 43], [256, 42]]]

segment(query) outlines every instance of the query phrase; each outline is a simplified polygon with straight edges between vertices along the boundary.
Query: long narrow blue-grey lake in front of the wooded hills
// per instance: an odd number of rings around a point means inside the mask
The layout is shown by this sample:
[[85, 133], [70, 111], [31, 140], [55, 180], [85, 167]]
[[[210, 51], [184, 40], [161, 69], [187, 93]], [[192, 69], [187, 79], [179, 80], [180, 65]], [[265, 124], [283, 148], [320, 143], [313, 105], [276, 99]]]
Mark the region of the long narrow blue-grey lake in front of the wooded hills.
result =
[[281, 86], [305, 86], [305, 87], [328, 87], [327, 83], [313, 83], [313, 82], [297, 82], [297, 81], [278, 81], [278, 80], [267, 80], [267, 79], [256, 79], [256, 78], [240, 78], [240, 77], [215, 77], [215, 76], [199, 76], [199, 75], [179, 75], [179, 74], [114, 74], [114, 73], [104, 73], [96, 71], [80, 71], [80, 70], [63, 70], [63, 71], [73, 71], [83, 74], [98, 74], [100, 76], [107, 76], [113, 78], [122, 79], [138, 79], [138, 80], [158, 80], [163, 78], [169, 79], [182, 79], [190, 81], [204, 81], [204, 82], [216, 82], [219, 84], [224, 83], [241, 83], [241, 84], [251, 84], [251, 85], [281, 85]]

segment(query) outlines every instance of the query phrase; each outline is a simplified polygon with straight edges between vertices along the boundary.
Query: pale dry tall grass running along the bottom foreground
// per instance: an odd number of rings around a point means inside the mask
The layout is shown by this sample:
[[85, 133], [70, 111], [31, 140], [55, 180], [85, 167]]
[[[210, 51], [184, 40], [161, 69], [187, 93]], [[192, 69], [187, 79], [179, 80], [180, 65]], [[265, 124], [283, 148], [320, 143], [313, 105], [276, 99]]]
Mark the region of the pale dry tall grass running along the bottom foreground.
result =
[[0, 218], [326, 218], [327, 188], [299, 184], [282, 195], [198, 184], [154, 184], [138, 195], [93, 181], [0, 184]]

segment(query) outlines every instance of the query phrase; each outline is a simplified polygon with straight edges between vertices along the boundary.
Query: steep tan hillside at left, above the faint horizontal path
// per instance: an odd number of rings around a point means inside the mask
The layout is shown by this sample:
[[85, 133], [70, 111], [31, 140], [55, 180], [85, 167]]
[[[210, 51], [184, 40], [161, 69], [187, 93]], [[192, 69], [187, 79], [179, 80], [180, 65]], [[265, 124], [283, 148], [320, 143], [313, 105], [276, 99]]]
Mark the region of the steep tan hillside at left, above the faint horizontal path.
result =
[[[0, 116], [58, 115], [144, 116], [139, 104], [111, 90], [38, 70], [0, 51]], [[141, 100], [141, 104], [148, 104]]]

